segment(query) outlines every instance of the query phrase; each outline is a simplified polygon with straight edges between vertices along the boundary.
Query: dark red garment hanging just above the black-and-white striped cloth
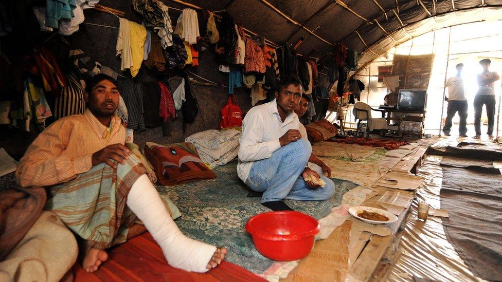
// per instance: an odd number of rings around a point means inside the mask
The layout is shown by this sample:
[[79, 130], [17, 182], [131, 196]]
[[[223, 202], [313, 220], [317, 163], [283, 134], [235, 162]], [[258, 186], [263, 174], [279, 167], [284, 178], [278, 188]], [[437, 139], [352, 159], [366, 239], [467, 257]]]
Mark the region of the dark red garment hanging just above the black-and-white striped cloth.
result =
[[65, 87], [67, 84], [66, 78], [59, 68], [58, 61], [44, 47], [34, 50], [33, 58], [37, 63], [45, 91], [51, 93], [55, 97], [58, 96], [59, 89]]

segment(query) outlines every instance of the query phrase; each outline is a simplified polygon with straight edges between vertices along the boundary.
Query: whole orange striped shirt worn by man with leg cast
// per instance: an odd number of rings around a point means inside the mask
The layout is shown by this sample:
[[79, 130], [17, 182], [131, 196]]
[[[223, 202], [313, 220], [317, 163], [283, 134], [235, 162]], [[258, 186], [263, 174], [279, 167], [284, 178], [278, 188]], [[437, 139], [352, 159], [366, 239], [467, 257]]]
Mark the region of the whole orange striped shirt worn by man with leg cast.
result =
[[15, 173], [17, 184], [56, 185], [88, 172], [95, 152], [126, 142], [126, 128], [119, 117], [112, 116], [110, 128], [101, 124], [89, 109], [57, 120], [42, 131], [21, 158]]

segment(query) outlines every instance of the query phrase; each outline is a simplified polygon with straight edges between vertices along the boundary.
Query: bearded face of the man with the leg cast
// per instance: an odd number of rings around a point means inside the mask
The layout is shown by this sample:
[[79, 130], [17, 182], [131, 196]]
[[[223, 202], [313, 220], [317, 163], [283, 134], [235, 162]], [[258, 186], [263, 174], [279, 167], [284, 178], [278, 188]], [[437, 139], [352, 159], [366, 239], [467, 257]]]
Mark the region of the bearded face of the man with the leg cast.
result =
[[120, 93], [109, 80], [102, 80], [87, 93], [89, 110], [97, 117], [111, 117], [117, 110]]

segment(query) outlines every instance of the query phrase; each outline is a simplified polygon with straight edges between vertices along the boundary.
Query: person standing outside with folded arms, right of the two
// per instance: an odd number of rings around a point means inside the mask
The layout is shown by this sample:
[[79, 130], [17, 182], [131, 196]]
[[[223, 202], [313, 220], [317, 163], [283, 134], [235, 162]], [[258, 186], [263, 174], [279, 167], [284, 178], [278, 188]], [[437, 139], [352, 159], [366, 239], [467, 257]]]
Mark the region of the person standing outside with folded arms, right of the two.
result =
[[478, 74], [477, 82], [478, 92], [474, 98], [474, 129], [476, 130], [475, 139], [481, 138], [481, 113], [483, 105], [486, 106], [488, 116], [488, 138], [493, 139], [493, 124], [495, 120], [495, 81], [500, 77], [495, 71], [489, 71], [490, 59], [483, 59], [479, 64], [483, 67], [483, 72]]

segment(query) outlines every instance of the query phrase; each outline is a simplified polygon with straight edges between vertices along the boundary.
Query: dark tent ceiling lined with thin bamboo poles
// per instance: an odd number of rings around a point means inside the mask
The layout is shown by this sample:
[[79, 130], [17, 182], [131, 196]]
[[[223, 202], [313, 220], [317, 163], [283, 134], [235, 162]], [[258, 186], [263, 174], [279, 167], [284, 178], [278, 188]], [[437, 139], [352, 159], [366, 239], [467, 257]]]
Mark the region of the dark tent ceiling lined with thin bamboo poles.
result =
[[[502, 0], [187, 0], [187, 2], [211, 11], [225, 9], [236, 22], [278, 45], [286, 41], [295, 43], [300, 36], [304, 36], [305, 40], [297, 51], [313, 56], [314, 53], [320, 54], [332, 49], [333, 44], [340, 42], [350, 49], [365, 51], [369, 48], [375, 52], [373, 48], [382, 41], [390, 40], [396, 45], [410, 39], [408, 28], [413, 26], [413, 29], [417, 29], [420, 23], [427, 19], [466, 9], [486, 10], [502, 6]], [[314, 31], [328, 43], [288, 21], [264, 2], [270, 3], [299, 25]], [[476, 21], [478, 20], [476, 18]], [[463, 18], [462, 21], [469, 20]], [[456, 24], [455, 21], [450, 22]], [[431, 31], [435, 27], [428, 24], [424, 28], [426, 30], [420, 32]], [[312, 53], [314, 49], [317, 51]]]

